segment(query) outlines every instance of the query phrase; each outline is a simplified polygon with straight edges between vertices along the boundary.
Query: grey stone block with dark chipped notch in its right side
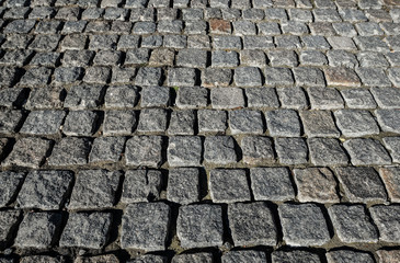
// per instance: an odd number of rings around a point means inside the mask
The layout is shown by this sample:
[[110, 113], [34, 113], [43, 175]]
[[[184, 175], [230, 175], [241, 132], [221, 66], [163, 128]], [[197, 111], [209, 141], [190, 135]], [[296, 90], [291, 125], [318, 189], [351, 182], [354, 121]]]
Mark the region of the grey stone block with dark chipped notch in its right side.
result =
[[156, 170], [128, 170], [122, 193], [122, 203], [150, 202], [160, 197], [162, 174]]

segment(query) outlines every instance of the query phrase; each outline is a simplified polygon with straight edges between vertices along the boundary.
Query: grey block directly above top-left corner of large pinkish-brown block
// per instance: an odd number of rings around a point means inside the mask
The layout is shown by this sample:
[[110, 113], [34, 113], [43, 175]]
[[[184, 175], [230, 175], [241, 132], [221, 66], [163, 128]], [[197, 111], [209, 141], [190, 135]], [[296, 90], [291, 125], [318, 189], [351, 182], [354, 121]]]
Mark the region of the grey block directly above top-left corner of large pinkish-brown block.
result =
[[300, 164], [308, 160], [308, 148], [302, 138], [275, 138], [275, 150], [283, 164]]

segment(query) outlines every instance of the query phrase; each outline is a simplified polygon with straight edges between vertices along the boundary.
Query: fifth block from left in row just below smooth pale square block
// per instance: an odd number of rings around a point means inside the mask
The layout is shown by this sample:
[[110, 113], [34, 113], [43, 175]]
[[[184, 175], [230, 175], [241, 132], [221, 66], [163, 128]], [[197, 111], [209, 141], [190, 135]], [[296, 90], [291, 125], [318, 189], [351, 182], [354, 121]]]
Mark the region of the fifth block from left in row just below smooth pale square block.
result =
[[167, 111], [164, 108], [144, 108], [140, 111], [137, 130], [140, 133], [162, 133], [167, 130]]

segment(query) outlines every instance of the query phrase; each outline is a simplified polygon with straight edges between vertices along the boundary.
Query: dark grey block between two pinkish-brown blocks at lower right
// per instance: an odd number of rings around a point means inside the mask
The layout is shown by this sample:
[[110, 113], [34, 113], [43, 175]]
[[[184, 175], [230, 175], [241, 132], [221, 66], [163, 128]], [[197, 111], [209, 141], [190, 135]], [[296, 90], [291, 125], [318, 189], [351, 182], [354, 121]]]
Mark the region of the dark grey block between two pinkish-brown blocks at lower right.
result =
[[387, 199], [385, 186], [374, 168], [336, 168], [335, 173], [350, 202], [367, 203]]

